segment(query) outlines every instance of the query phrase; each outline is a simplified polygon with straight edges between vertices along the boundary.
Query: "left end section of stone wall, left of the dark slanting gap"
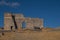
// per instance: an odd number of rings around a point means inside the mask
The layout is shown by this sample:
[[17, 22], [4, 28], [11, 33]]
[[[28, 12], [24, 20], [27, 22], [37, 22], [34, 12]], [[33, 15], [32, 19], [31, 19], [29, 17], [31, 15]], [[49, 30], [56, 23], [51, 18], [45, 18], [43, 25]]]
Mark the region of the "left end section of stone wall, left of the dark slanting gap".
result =
[[13, 26], [14, 29], [14, 22], [11, 15], [11, 13], [4, 14], [4, 30], [11, 30], [11, 26]]

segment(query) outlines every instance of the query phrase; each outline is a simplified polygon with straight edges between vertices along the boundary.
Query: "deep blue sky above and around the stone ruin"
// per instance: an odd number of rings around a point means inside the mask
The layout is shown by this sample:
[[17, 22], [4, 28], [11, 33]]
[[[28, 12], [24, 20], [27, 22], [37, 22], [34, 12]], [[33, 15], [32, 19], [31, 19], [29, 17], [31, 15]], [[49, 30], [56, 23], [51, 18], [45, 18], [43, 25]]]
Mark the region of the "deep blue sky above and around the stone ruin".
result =
[[44, 27], [60, 26], [60, 0], [0, 0], [0, 26], [4, 12], [22, 13], [25, 17], [43, 18]]

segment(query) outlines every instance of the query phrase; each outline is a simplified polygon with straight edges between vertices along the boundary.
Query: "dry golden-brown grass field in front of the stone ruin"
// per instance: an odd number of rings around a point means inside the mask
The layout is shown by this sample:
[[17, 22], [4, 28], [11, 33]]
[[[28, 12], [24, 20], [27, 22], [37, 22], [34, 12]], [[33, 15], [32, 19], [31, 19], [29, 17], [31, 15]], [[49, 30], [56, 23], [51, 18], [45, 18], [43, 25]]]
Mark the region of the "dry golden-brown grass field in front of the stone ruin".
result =
[[0, 35], [0, 40], [60, 40], [60, 31], [5, 32]]

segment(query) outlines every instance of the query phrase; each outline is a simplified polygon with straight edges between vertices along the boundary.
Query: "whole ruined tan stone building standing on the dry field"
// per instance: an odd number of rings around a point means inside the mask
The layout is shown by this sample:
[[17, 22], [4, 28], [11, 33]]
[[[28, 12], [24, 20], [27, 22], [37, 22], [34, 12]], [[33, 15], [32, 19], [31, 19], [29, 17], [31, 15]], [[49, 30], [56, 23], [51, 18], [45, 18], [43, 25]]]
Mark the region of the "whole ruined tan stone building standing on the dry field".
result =
[[4, 14], [4, 30], [34, 30], [34, 27], [43, 28], [43, 19], [24, 17], [23, 14]]

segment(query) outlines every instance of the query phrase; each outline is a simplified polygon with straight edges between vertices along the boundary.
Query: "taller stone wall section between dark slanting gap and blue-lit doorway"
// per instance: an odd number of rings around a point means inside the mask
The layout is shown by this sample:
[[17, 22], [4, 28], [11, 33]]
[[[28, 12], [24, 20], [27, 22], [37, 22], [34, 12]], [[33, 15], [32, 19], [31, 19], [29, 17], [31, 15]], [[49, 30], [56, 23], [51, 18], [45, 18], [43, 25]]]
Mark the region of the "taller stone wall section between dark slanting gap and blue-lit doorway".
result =
[[18, 30], [22, 29], [22, 22], [24, 21], [24, 16], [22, 14], [14, 14], [17, 23]]

